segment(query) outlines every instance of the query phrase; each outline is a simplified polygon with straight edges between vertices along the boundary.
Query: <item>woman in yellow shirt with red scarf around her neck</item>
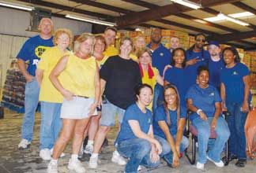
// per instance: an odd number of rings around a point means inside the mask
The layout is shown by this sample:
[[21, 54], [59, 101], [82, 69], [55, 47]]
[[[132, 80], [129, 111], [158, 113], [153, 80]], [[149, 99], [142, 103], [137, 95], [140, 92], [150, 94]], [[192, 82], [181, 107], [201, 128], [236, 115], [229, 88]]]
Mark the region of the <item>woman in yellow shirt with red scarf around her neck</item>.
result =
[[[163, 86], [164, 79], [161, 77], [161, 75], [159, 75], [158, 70], [151, 66], [151, 51], [148, 48], [141, 49], [137, 52], [137, 57], [141, 70], [142, 83], [147, 83], [152, 88], [155, 87], [156, 83]], [[152, 111], [152, 102], [147, 106], [147, 108]]]

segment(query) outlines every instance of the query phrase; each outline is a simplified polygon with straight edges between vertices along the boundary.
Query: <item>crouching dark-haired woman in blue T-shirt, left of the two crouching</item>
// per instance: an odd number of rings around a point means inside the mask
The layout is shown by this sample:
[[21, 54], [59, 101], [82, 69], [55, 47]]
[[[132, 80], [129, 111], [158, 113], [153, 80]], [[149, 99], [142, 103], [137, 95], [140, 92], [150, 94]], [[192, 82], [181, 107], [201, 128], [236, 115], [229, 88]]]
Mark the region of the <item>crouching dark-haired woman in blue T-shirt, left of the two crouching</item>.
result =
[[157, 167], [160, 156], [171, 149], [163, 138], [157, 141], [152, 131], [152, 112], [146, 108], [152, 101], [152, 87], [140, 84], [135, 89], [136, 103], [126, 109], [121, 131], [117, 138], [117, 150], [128, 157], [125, 172], [137, 172], [139, 165]]

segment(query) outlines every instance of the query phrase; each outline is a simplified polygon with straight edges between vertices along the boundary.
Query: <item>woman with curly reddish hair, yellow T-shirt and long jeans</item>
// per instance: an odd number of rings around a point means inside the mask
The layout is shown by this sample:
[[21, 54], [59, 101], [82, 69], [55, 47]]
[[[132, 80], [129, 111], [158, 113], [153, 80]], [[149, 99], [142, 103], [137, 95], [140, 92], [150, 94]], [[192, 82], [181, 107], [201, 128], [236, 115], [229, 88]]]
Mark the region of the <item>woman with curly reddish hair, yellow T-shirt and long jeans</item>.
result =
[[52, 148], [58, 138], [58, 132], [62, 128], [60, 109], [62, 106], [62, 94], [52, 85], [49, 75], [58, 63], [59, 59], [70, 54], [67, 47], [70, 46], [73, 35], [68, 29], [55, 31], [54, 47], [47, 49], [41, 57], [36, 69], [36, 79], [40, 84], [41, 126], [40, 126], [40, 157], [43, 160], [51, 160]]

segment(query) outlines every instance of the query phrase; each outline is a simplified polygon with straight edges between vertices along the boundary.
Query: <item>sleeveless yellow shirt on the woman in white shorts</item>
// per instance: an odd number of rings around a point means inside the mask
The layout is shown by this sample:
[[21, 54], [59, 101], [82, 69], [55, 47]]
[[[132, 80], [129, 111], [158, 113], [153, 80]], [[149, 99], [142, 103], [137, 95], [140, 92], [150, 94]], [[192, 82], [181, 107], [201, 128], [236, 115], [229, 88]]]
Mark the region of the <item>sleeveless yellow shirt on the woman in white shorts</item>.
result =
[[96, 59], [89, 57], [81, 59], [75, 55], [70, 55], [66, 68], [59, 76], [63, 88], [70, 90], [74, 95], [95, 97], [95, 75]]

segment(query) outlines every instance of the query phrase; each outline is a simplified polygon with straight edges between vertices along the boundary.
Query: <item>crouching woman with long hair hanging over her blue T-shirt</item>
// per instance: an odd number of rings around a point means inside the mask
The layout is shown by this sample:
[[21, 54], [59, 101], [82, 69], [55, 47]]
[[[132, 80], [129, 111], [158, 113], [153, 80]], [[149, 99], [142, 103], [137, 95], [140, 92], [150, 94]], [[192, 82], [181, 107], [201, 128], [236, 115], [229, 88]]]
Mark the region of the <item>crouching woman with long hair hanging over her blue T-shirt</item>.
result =
[[179, 92], [171, 84], [164, 86], [164, 105], [156, 109], [153, 120], [155, 138], [164, 138], [171, 146], [171, 153], [164, 156], [168, 166], [178, 167], [179, 156], [188, 147], [183, 136], [186, 124], [186, 108], [180, 106]]

